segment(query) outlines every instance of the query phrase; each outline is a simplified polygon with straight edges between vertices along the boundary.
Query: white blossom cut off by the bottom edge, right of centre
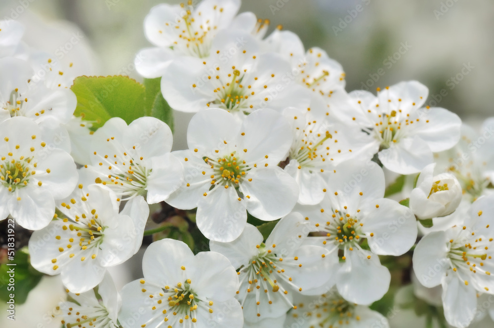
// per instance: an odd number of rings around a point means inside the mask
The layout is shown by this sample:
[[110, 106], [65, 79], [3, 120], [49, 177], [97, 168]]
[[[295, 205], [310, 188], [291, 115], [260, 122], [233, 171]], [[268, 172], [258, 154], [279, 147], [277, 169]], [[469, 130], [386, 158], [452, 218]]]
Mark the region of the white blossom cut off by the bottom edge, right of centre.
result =
[[382, 314], [348, 302], [335, 288], [320, 296], [297, 295], [295, 304], [296, 309], [288, 313], [285, 327], [389, 328]]

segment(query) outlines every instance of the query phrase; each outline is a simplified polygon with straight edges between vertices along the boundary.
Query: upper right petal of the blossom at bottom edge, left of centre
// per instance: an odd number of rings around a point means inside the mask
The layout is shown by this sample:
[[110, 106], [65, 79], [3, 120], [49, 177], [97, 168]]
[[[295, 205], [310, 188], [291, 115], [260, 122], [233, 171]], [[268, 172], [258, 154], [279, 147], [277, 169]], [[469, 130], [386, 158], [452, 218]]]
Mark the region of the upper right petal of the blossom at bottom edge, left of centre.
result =
[[208, 251], [194, 257], [194, 266], [185, 268], [192, 281], [191, 288], [200, 299], [210, 298], [226, 302], [239, 290], [239, 278], [235, 268], [222, 254]]

